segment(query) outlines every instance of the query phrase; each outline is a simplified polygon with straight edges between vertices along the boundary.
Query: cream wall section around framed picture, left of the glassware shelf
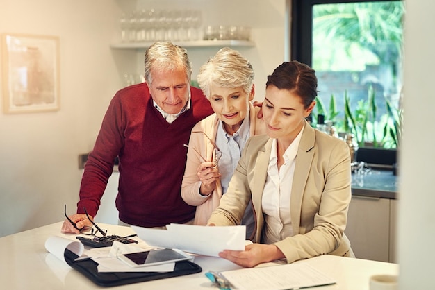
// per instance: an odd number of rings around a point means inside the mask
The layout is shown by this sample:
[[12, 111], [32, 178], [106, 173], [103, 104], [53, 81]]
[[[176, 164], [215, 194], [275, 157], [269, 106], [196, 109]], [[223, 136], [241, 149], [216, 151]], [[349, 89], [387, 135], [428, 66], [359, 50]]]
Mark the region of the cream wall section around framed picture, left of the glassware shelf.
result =
[[61, 221], [64, 203], [76, 210], [78, 156], [122, 84], [108, 48], [119, 14], [115, 1], [0, 0], [0, 33], [60, 39], [60, 110], [3, 114], [1, 102], [0, 237]]

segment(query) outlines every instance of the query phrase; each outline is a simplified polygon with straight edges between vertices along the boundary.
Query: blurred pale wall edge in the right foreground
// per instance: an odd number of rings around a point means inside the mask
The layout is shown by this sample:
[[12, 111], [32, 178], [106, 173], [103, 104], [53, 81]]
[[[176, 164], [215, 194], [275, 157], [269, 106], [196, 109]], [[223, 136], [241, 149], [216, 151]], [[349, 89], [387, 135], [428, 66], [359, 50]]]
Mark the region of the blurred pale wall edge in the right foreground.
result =
[[400, 149], [400, 289], [435, 289], [435, 2], [405, 1], [404, 139]]

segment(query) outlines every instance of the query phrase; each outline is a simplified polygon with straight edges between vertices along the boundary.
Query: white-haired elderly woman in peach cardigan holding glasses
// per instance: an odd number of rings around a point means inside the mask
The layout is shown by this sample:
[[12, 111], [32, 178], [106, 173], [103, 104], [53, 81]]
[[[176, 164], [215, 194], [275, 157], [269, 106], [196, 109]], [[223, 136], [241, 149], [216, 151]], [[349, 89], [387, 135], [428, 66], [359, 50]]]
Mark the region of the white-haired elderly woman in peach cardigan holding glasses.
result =
[[[215, 114], [192, 129], [181, 196], [197, 207], [195, 225], [206, 225], [236, 169], [245, 142], [265, 133], [254, 99], [254, 69], [238, 51], [220, 49], [199, 69], [197, 81]], [[247, 239], [254, 236], [252, 207], [242, 220]]]

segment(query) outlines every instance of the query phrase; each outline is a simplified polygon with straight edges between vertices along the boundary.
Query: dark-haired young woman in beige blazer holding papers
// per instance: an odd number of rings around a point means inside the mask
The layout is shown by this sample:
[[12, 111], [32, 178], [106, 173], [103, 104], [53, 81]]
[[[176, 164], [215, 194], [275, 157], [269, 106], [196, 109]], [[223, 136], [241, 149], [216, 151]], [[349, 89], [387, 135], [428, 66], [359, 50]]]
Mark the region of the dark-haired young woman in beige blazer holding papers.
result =
[[[351, 199], [347, 144], [305, 121], [317, 95], [315, 71], [284, 62], [268, 76], [263, 120], [251, 137], [209, 225], [237, 225], [252, 200], [254, 244], [220, 257], [240, 266], [322, 254], [353, 257], [344, 230]], [[260, 244], [261, 243], [261, 244]]]

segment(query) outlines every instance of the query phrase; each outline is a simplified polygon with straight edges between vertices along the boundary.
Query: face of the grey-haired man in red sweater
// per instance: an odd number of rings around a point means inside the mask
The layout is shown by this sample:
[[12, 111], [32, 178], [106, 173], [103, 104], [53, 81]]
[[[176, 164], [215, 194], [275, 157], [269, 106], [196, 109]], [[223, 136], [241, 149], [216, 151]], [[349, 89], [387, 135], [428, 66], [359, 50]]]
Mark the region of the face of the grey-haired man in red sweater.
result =
[[149, 92], [157, 105], [167, 114], [177, 114], [184, 108], [190, 84], [183, 68], [174, 70], [151, 69], [152, 83]]

